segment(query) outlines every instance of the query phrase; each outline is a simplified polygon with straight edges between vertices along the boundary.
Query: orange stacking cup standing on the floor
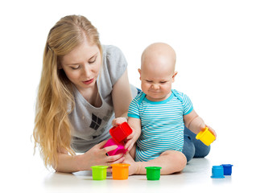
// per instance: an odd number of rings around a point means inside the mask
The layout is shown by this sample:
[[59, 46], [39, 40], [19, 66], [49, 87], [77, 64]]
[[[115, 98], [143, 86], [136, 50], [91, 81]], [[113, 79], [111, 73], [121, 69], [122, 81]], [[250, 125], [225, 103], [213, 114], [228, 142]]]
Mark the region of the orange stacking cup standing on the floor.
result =
[[128, 179], [130, 164], [114, 163], [111, 166], [113, 179]]

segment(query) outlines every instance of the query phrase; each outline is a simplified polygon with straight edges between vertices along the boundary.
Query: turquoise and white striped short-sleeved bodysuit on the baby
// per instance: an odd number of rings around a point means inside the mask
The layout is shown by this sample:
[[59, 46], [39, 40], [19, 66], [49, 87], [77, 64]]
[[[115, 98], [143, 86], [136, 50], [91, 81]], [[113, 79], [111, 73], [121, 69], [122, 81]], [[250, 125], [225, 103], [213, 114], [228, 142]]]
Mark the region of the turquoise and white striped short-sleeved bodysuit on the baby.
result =
[[164, 101], [149, 101], [144, 92], [139, 93], [128, 111], [128, 117], [139, 118], [142, 123], [135, 161], [147, 162], [166, 150], [182, 151], [184, 115], [191, 113], [192, 109], [188, 96], [174, 89]]

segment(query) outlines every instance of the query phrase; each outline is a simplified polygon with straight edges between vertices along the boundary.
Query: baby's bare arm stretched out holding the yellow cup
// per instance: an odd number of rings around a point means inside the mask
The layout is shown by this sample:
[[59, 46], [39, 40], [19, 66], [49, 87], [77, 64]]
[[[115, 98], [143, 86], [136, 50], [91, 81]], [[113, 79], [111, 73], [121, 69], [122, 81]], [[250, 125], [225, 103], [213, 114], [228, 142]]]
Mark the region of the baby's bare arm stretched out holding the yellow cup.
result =
[[213, 133], [215, 137], [217, 137], [214, 129], [211, 128], [209, 125], [205, 125], [204, 120], [198, 116], [194, 109], [192, 110], [191, 113], [184, 115], [184, 123], [188, 129], [190, 129], [193, 133], [196, 134], [207, 126], [209, 128], [209, 131]]

